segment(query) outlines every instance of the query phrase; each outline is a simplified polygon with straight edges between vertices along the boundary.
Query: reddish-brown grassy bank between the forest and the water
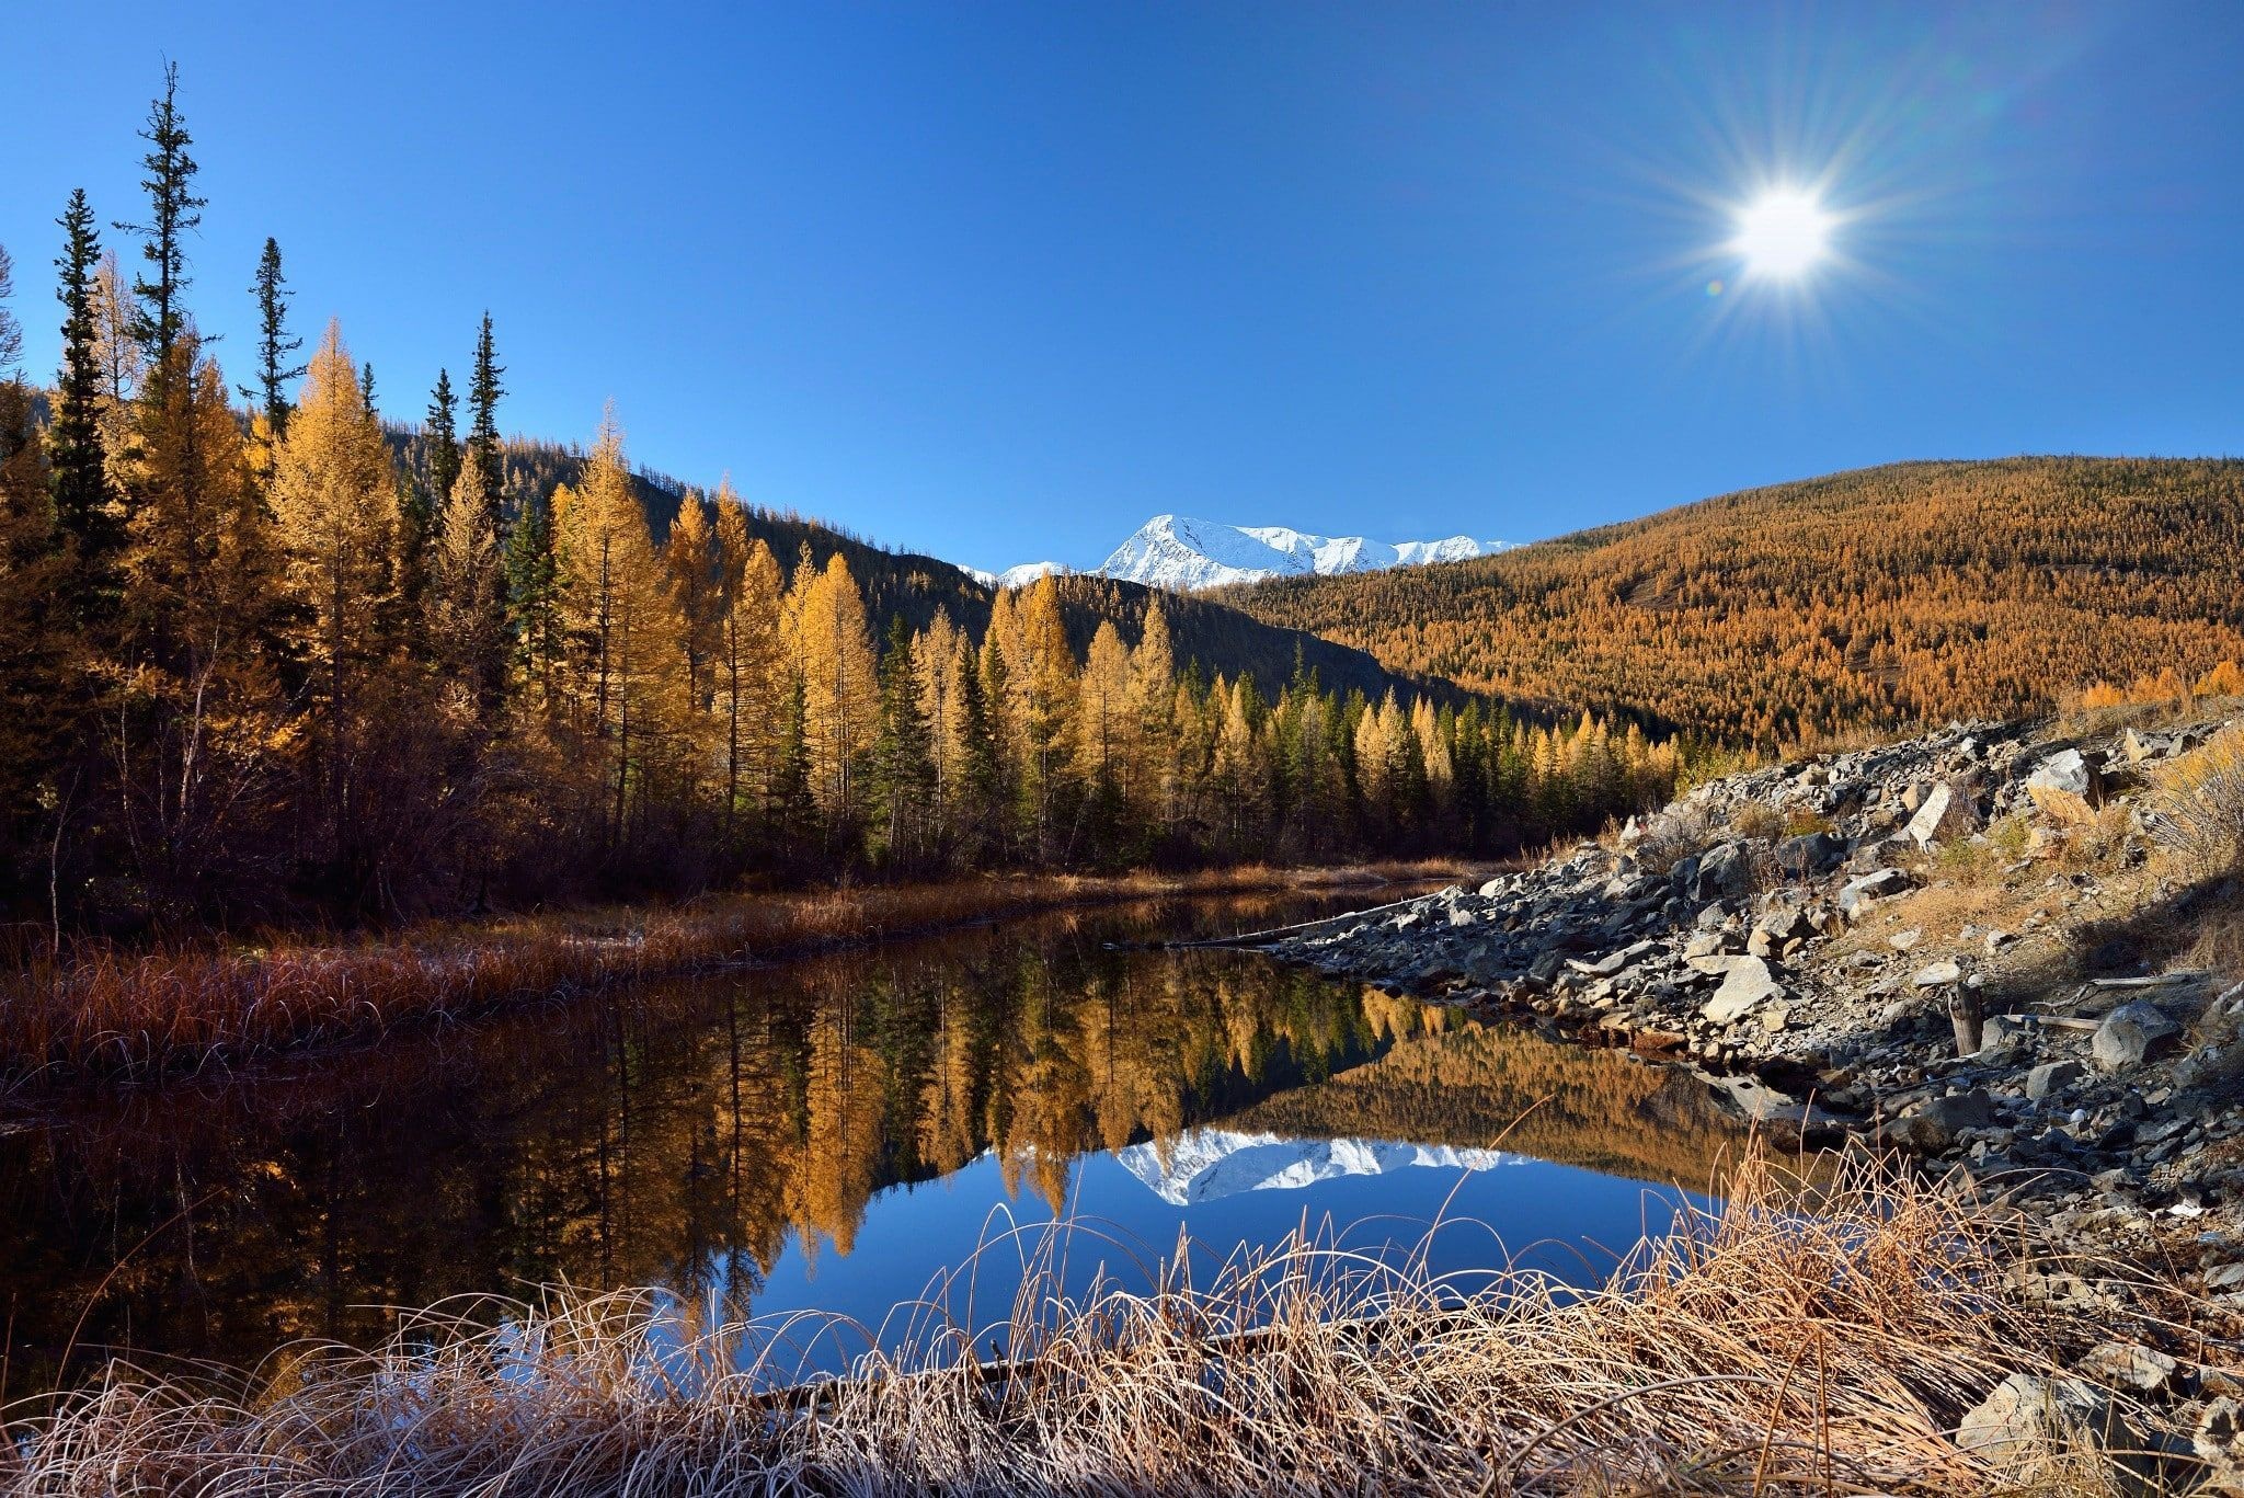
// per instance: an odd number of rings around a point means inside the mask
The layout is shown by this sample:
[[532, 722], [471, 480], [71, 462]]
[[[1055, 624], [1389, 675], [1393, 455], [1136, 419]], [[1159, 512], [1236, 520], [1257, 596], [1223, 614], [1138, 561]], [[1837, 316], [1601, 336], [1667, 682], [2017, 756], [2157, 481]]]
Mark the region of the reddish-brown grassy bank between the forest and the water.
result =
[[144, 1080], [366, 1044], [619, 979], [1066, 905], [1443, 878], [1454, 865], [965, 878], [424, 925], [364, 941], [34, 950], [0, 977], [0, 1089]]

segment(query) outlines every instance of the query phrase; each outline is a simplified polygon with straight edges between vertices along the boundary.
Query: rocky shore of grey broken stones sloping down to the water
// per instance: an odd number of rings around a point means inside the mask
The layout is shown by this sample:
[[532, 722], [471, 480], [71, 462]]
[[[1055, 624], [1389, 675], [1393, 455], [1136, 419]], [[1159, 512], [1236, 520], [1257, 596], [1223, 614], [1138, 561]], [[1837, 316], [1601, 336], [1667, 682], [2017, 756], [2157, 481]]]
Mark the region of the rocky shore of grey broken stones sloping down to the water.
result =
[[[1690, 1067], [1806, 1143], [1916, 1157], [1990, 1222], [2159, 1267], [2219, 1323], [2199, 1336], [2233, 1339], [2244, 894], [2174, 851], [2170, 815], [2174, 766], [2222, 730], [1959, 723], [1703, 784], [1479, 889], [1248, 943]], [[2064, 1280], [2049, 1294], [2114, 1294]], [[2195, 1401], [2183, 1426], [2233, 1482], [2208, 1491], [2244, 1494], [2237, 1365], [2233, 1341], [2116, 1343], [1975, 1419], [2015, 1433], [2118, 1379]]]

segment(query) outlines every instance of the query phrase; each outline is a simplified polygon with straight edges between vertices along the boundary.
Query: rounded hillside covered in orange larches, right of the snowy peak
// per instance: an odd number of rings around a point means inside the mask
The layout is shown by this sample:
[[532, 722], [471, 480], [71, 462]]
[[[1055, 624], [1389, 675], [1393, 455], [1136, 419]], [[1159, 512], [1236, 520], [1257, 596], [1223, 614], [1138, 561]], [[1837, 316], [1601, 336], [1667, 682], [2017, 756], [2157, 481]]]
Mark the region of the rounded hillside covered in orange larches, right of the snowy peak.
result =
[[1501, 557], [1216, 597], [1515, 701], [1730, 741], [2020, 714], [2244, 658], [2244, 463], [1896, 463]]

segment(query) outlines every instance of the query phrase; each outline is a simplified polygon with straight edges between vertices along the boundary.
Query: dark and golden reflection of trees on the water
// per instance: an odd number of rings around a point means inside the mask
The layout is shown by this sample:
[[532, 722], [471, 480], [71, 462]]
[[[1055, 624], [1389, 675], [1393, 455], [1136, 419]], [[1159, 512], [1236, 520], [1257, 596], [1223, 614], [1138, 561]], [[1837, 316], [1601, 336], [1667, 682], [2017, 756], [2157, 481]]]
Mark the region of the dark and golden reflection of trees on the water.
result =
[[[554, 1280], [752, 1300], [790, 1240], [848, 1253], [873, 1193], [985, 1150], [1059, 1204], [1077, 1152], [1241, 1109], [1486, 1143], [1510, 1098], [1548, 1089], [1535, 1067], [1620, 1065], [1537, 1060], [1587, 1053], [1445, 1033], [1438, 1011], [1252, 957], [1109, 952], [1111, 930], [1068, 916], [671, 984], [0, 1136], [16, 1388], [52, 1379], [85, 1296], [144, 1237], [88, 1339], [242, 1361], [379, 1336], [373, 1307]], [[1699, 1139], [1647, 1114], [1654, 1076], [1578, 1087], [1510, 1143]]]

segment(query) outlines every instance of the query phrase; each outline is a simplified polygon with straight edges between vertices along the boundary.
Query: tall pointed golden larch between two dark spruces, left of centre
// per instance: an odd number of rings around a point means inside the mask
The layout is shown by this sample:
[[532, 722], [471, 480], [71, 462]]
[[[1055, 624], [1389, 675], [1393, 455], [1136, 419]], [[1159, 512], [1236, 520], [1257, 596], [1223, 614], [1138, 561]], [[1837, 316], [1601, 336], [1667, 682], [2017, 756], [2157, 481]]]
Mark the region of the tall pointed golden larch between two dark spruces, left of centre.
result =
[[303, 407], [274, 463], [274, 523], [298, 604], [296, 649], [319, 701], [325, 833], [352, 849], [352, 761], [364, 678], [381, 656], [395, 586], [397, 485], [381, 427], [359, 393], [343, 332], [328, 326], [312, 355]]

